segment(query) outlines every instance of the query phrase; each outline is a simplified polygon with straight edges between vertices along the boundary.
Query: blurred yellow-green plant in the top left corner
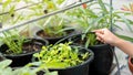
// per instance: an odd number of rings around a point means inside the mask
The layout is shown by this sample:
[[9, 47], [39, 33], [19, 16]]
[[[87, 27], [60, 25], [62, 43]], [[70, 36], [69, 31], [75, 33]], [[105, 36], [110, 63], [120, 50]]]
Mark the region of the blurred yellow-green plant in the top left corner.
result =
[[17, 14], [16, 9], [17, 9], [17, 3], [19, 3], [20, 0], [8, 0], [3, 1], [0, 8], [0, 22], [3, 24], [14, 24], [18, 22], [18, 20], [22, 19], [22, 13]]

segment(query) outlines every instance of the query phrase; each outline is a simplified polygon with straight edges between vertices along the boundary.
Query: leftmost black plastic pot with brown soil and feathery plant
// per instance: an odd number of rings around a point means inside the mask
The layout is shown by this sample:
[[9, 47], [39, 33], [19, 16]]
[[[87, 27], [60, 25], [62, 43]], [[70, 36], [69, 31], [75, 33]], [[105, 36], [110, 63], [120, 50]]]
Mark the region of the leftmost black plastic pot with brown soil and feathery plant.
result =
[[11, 67], [18, 67], [18, 66], [24, 66], [25, 64], [32, 62], [32, 54], [40, 52], [42, 45], [48, 45], [48, 41], [47, 40], [42, 40], [42, 39], [29, 39], [31, 40], [28, 43], [24, 44], [35, 44], [39, 45], [39, 51], [33, 51], [33, 52], [29, 52], [29, 53], [22, 53], [22, 54], [18, 54], [18, 55], [12, 55], [12, 54], [6, 54], [6, 51], [9, 49], [6, 44], [2, 44], [0, 46], [0, 52], [2, 53], [2, 55], [6, 58], [10, 58], [12, 60], [11, 63]]

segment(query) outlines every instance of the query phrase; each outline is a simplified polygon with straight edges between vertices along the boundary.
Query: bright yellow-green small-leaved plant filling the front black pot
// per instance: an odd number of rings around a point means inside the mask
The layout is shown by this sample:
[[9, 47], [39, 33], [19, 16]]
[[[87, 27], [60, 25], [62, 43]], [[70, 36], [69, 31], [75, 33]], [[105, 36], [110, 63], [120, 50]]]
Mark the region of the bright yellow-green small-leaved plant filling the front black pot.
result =
[[89, 52], [80, 52], [78, 46], [70, 46], [70, 43], [60, 43], [42, 46], [42, 51], [33, 56], [48, 68], [65, 68], [83, 63], [90, 55]]

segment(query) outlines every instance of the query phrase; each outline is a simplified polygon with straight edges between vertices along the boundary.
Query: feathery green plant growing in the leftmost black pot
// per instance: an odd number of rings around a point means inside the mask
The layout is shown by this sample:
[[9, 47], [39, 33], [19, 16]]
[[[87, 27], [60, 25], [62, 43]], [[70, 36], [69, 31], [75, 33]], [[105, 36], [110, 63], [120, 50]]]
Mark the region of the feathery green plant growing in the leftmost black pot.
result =
[[9, 47], [6, 51], [7, 54], [22, 53], [23, 43], [28, 42], [28, 40], [25, 40], [24, 36], [20, 36], [18, 33], [12, 33], [10, 31], [3, 32], [3, 36], [1, 36], [1, 41]]

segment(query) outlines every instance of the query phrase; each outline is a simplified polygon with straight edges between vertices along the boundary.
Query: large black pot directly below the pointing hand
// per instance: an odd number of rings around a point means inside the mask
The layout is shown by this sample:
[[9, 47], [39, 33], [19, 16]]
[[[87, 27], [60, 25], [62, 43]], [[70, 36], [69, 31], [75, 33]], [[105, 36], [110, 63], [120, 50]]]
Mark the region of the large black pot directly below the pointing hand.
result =
[[[74, 35], [70, 38], [70, 41], [75, 45], [84, 46], [83, 42], [85, 41], [81, 42], [81, 35], [82, 34]], [[89, 46], [88, 49], [94, 52], [94, 61], [90, 64], [89, 75], [109, 75], [113, 64], [113, 46], [109, 44], [98, 44]]]

